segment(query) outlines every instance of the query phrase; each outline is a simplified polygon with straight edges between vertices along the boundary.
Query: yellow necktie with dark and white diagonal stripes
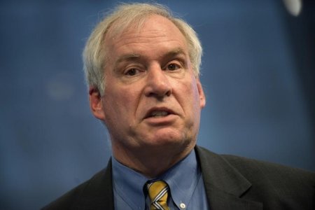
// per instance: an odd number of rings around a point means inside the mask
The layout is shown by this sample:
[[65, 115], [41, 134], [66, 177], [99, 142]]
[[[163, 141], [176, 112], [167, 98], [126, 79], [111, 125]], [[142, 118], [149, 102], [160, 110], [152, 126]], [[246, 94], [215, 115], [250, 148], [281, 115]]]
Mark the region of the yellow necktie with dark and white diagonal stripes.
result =
[[167, 206], [167, 191], [169, 186], [165, 181], [157, 180], [148, 183], [148, 195], [151, 200], [150, 210], [169, 210]]

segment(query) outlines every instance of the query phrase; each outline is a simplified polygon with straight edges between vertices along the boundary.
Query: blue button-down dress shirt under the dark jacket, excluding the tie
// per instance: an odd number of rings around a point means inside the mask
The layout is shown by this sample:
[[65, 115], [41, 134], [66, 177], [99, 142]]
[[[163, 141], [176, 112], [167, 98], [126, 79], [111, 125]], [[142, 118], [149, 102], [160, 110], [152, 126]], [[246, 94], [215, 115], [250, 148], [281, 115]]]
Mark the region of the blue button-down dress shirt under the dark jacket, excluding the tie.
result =
[[[150, 209], [150, 199], [144, 190], [148, 178], [120, 164], [115, 158], [112, 158], [112, 164], [115, 209]], [[167, 204], [170, 209], [209, 209], [194, 150], [156, 179], [161, 179], [169, 185]]]

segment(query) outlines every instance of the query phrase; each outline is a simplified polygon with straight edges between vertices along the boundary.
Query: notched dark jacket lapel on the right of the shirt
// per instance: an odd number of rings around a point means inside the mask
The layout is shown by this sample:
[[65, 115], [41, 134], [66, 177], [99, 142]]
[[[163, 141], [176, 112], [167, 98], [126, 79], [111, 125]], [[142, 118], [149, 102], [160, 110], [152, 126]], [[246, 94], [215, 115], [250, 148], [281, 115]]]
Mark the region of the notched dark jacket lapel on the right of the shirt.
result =
[[199, 146], [196, 146], [196, 154], [210, 209], [262, 209], [262, 203], [241, 198], [251, 188], [251, 183], [225, 159]]

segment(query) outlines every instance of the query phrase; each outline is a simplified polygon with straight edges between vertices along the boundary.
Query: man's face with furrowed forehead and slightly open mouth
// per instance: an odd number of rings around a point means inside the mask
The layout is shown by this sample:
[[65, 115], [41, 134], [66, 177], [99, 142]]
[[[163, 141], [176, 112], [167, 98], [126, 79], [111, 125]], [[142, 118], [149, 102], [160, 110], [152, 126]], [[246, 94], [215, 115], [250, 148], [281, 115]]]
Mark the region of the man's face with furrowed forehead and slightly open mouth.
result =
[[101, 109], [93, 113], [106, 124], [114, 155], [192, 149], [205, 98], [181, 31], [153, 15], [140, 30], [130, 27], [119, 36], [109, 31], [105, 43], [106, 87]]

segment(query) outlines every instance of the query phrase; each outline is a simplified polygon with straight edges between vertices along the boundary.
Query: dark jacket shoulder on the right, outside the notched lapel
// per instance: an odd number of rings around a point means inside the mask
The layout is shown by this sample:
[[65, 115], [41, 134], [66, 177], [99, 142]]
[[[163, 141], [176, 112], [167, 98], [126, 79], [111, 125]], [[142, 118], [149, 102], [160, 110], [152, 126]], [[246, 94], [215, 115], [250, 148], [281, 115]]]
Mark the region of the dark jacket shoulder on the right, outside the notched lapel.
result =
[[315, 173], [233, 155], [222, 157], [251, 182], [244, 198], [262, 200], [267, 209], [314, 208]]

